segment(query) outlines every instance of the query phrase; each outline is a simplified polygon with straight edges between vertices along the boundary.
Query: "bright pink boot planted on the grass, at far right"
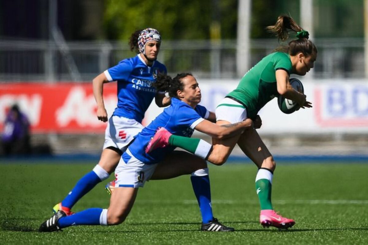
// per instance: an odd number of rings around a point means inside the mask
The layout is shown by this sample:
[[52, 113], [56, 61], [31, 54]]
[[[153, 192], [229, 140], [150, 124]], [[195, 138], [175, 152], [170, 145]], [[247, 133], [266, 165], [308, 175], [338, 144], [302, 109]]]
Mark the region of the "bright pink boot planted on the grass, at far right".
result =
[[277, 213], [272, 209], [261, 210], [261, 214], [259, 215], [259, 222], [263, 227], [274, 226], [279, 229], [287, 229], [295, 224], [294, 220], [284, 218]]

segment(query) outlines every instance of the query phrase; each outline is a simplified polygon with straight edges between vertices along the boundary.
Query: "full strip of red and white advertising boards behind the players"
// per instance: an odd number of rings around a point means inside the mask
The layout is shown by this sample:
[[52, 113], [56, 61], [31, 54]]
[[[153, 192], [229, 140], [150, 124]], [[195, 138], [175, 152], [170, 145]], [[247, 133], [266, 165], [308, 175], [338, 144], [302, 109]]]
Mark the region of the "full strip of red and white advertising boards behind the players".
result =
[[[211, 111], [238, 80], [198, 79], [202, 102]], [[313, 108], [283, 114], [274, 98], [259, 112], [260, 133], [368, 133], [368, 83], [365, 80], [302, 80]], [[104, 84], [109, 116], [117, 104], [116, 83]], [[0, 84], [0, 128], [8, 109], [18, 104], [31, 123], [33, 133], [103, 133], [106, 123], [96, 117], [91, 83]], [[163, 108], [152, 102], [143, 124], [151, 122]]]

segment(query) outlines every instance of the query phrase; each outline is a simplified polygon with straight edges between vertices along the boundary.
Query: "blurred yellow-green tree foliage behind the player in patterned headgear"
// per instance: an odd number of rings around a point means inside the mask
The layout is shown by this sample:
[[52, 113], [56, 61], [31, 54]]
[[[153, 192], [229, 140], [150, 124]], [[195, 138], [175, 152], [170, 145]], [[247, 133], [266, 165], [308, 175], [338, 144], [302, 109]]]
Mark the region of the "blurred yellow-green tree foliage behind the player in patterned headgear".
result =
[[211, 0], [124, 0], [105, 2], [107, 39], [127, 40], [137, 29], [152, 27], [164, 39], [208, 39]]

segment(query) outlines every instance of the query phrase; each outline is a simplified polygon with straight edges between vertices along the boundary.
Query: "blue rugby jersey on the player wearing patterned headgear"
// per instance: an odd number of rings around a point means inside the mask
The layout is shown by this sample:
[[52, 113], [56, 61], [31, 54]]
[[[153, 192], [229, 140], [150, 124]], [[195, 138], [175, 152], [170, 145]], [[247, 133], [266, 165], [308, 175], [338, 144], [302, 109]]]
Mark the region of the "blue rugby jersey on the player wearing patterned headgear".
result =
[[139, 54], [107, 69], [107, 80], [117, 81], [118, 102], [113, 116], [123, 116], [141, 123], [155, 97], [156, 89], [152, 83], [159, 73], [167, 73], [163, 64], [154, 61], [152, 66], [148, 66]]

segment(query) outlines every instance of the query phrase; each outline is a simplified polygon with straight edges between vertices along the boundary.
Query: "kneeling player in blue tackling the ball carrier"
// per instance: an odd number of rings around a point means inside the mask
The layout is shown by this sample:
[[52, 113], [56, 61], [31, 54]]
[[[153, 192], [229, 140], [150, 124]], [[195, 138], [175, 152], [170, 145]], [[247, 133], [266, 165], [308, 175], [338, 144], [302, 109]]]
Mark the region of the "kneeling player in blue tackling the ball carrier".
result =
[[[117, 184], [110, 199], [109, 209], [91, 208], [70, 216], [63, 211], [58, 211], [41, 224], [40, 232], [57, 231], [72, 225], [120, 224], [128, 216], [134, 204], [138, 187], [143, 187], [147, 180], [177, 177], [196, 172], [204, 167], [202, 164], [192, 163], [191, 159], [187, 158], [190, 156], [189, 153], [174, 151], [175, 147], [171, 146], [146, 154], [145, 148], [158, 127], [165, 127], [171, 133], [185, 137], [191, 137], [196, 129], [212, 137], [223, 139], [240, 134], [252, 126], [251, 119], [225, 126], [212, 123], [210, 120], [214, 121], [215, 114], [198, 105], [201, 101], [201, 90], [190, 73], [178, 74], [174, 79], [160, 75], [155, 86], [159, 91], [169, 92], [171, 105], [145, 127], [123, 153], [115, 170]], [[197, 153], [201, 153], [200, 147]], [[205, 158], [203, 154], [207, 153], [202, 152], [202, 157]], [[185, 162], [170, 165], [166, 160], [173, 155], [181, 156]], [[183, 165], [186, 166], [184, 169]], [[202, 190], [200, 194], [197, 197], [200, 207], [202, 202], [210, 203], [209, 188]], [[202, 223], [201, 230], [233, 231], [234, 229], [224, 226], [213, 218], [209, 223]]]

